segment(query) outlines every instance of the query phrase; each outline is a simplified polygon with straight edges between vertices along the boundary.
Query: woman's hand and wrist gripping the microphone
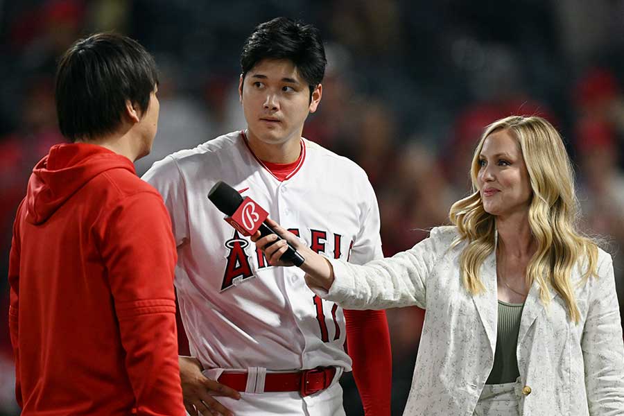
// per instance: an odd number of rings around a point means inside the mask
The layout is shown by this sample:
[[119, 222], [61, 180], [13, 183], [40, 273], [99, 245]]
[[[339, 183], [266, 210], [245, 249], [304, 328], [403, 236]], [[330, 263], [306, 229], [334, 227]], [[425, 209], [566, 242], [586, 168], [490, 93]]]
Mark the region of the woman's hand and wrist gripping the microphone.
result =
[[283, 239], [278, 240], [275, 234], [261, 237], [260, 232], [256, 232], [252, 236], [252, 241], [256, 243], [257, 248], [264, 252], [264, 257], [266, 257], [268, 263], [271, 266], [293, 266], [293, 263], [290, 261], [280, 260], [281, 255], [288, 249], [286, 243], [291, 243], [293, 248], [304, 258], [304, 263], [300, 268], [306, 272], [306, 284], [311, 288], [324, 288], [329, 291], [331, 284], [333, 284], [333, 267], [331, 263], [313, 252], [295, 234], [281, 227], [274, 220], [266, 218], [266, 223]]

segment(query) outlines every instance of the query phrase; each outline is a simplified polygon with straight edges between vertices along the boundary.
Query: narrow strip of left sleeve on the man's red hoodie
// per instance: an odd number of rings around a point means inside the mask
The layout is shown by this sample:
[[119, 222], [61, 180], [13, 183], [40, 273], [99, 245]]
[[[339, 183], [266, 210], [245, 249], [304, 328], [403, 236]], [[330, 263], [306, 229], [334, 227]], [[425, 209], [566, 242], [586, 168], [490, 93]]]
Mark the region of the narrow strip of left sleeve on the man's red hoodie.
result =
[[19, 331], [18, 331], [18, 317], [19, 317], [19, 217], [21, 213], [21, 207], [19, 205], [17, 209], [17, 216], [15, 223], [13, 224], [13, 236], [11, 241], [11, 251], [9, 255], [9, 290], [10, 290], [10, 304], [9, 304], [9, 332], [11, 337], [11, 345], [13, 347], [13, 358], [15, 360], [15, 399], [19, 407], [23, 406], [23, 400], [21, 397], [21, 377], [19, 372]]

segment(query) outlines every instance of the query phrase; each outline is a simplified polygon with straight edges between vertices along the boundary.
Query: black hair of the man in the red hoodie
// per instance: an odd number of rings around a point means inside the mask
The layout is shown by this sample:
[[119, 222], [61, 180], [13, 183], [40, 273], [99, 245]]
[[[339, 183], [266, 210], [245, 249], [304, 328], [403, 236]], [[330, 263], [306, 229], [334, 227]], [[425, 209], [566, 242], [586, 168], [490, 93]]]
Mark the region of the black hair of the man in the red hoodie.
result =
[[135, 40], [97, 33], [76, 41], [62, 55], [56, 73], [56, 114], [71, 141], [116, 130], [125, 103], [145, 114], [158, 84], [154, 58]]

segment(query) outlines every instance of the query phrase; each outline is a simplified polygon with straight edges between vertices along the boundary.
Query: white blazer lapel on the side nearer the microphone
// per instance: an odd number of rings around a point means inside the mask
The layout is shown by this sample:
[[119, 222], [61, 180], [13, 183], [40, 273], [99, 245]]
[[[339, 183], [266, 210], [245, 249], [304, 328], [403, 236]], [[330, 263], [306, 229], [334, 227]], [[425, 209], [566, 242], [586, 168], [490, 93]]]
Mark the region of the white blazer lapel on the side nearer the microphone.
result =
[[485, 286], [485, 293], [473, 296], [472, 300], [479, 313], [481, 324], [487, 333], [489, 346], [492, 349], [492, 357], [494, 357], [494, 349], [496, 349], [496, 325], [499, 319], [499, 306], [497, 302], [498, 293], [496, 289], [496, 250], [487, 256], [480, 268], [480, 279]]

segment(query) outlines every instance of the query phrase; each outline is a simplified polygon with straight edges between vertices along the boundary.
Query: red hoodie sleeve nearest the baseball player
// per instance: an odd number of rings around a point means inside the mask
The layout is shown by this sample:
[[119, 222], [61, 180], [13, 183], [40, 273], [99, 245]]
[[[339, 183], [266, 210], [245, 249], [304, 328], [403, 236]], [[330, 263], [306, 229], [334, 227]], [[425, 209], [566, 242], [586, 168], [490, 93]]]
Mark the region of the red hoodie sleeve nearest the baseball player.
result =
[[137, 415], [185, 415], [177, 363], [171, 221], [155, 192], [123, 198], [98, 233]]

